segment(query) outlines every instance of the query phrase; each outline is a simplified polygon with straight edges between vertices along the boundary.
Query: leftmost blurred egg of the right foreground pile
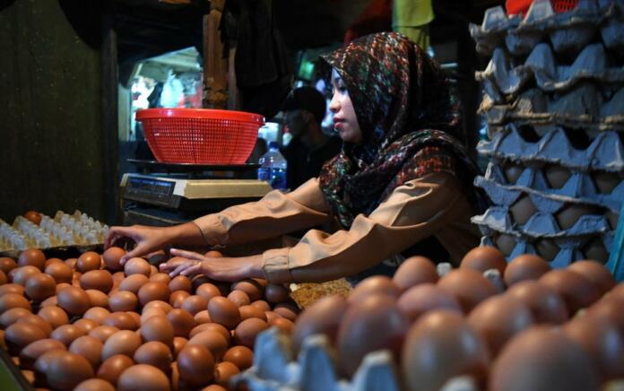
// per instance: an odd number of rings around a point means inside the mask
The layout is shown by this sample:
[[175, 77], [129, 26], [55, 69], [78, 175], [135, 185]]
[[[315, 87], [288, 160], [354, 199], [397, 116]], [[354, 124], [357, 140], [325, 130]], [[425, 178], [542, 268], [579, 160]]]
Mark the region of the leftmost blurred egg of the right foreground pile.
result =
[[[347, 300], [334, 294], [325, 296], [301, 312], [292, 333], [294, 351], [299, 352], [301, 343], [308, 335], [324, 334], [334, 343], [347, 307]], [[270, 323], [272, 320], [268, 321]]]

